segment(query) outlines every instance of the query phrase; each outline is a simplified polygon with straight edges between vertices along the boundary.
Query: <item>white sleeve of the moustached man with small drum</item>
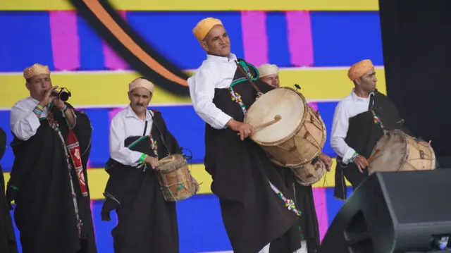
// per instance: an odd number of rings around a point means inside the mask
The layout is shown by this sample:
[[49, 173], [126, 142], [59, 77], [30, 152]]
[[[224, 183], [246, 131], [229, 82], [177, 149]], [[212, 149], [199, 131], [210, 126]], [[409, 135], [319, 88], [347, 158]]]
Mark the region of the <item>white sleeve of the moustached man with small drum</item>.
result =
[[125, 138], [125, 124], [122, 118], [119, 116], [113, 117], [110, 126], [110, 156], [123, 165], [137, 166], [142, 153], [125, 147]]

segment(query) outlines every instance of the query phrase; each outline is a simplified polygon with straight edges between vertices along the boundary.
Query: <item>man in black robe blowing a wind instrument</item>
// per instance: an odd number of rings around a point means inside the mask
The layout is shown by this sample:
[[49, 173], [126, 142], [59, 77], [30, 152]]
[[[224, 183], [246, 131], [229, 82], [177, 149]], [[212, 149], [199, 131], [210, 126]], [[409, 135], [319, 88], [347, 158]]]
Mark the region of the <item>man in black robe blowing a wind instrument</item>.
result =
[[6, 198], [24, 253], [97, 252], [86, 173], [87, 115], [54, 96], [47, 66], [23, 71], [30, 97], [11, 109], [15, 155]]

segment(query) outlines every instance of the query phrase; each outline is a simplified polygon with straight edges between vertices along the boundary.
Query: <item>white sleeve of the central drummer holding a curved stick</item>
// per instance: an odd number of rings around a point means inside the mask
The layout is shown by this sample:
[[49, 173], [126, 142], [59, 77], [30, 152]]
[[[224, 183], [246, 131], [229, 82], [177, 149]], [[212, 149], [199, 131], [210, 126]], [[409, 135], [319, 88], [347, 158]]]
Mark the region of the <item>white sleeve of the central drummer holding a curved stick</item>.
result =
[[213, 104], [214, 76], [208, 70], [199, 69], [194, 76], [188, 79], [190, 95], [194, 111], [212, 128], [223, 129], [230, 121], [230, 116]]

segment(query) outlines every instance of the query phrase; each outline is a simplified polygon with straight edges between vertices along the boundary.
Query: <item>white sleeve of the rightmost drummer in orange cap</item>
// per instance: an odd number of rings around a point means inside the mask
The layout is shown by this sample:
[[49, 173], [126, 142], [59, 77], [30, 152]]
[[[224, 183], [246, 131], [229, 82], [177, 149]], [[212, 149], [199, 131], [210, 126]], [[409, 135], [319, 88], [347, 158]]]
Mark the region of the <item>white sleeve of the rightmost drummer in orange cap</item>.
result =
[[350, 117], [347, 115], [348, 113], [345, 111], [345, 108], [342, 103], [338, 104], [337, 108], [335, 108], [335, 114], [333, 116], [332, 123], [332, 132], [330, 133], [330, 146], [332, 146], [333, 150], [338, 154], [338, 156], [342, 157], [342, 162], [347, 164], [354, 154], [355, 150], [352, 147], [349, 147], [345, 142], [345, 138], [347, 135], [347, 129], [349, 128]]

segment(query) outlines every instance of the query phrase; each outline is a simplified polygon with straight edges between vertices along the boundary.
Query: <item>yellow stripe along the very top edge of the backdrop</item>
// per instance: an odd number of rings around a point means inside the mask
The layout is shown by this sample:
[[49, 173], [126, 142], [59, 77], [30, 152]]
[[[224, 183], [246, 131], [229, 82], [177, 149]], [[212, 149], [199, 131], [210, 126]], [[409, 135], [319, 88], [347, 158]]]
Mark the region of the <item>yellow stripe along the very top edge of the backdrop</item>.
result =
[[[80, 0], [81, 1], [81, 0]], [[378, 0], [110, 0], [124, 11], [378, 11]], [[175, 6], [175, 7], [174, 7]], [[66, 11], [73, 10], [69, 0], [3, 0], [1, 11]]]

